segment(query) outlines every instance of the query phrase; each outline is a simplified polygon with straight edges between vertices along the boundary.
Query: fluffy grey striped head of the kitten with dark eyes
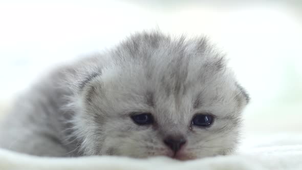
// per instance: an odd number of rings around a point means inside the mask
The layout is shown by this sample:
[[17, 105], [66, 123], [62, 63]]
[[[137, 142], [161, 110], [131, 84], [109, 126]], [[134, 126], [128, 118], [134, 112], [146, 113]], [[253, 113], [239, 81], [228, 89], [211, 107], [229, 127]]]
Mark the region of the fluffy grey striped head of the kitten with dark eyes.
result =
[[249, 97], [205, 38], [137, 34], [106, 58], [79, 92], [85, 155], [186, 160], [235, 148]]

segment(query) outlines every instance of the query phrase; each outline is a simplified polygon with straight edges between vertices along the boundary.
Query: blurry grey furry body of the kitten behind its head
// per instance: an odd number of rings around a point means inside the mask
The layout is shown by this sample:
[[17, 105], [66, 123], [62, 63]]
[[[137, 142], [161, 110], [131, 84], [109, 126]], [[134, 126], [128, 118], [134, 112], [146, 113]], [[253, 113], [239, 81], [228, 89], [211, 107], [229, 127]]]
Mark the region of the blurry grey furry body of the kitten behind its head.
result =
[[66, 156], [61, 108], [70, 92], [59, 84], [66, 70], [55, 71], [18, 96], [0, 123], [0, 147], [31, 155]]

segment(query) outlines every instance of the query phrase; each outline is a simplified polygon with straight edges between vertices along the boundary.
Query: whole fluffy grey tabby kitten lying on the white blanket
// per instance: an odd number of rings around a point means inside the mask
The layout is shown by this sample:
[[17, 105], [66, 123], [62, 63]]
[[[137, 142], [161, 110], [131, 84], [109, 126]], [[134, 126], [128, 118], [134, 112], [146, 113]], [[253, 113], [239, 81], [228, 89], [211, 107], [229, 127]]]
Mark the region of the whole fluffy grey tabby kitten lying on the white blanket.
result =
[[206, 38], [137, 33], [20, 96], [0, 146], [38, 156], [226, 155], [249, 97]]

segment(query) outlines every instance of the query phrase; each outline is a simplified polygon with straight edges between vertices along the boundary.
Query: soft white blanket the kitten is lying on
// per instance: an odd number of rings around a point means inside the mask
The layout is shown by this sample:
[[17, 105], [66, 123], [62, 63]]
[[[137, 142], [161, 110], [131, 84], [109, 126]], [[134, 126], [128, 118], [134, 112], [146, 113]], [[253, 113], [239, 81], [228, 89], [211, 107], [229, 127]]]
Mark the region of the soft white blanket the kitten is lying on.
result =
[[0, 169], [302, 169], [302, 134], [253, 136], [243, 141], [235, 155], [185, 162], [165, 157], [41, 158], [0, 150]]

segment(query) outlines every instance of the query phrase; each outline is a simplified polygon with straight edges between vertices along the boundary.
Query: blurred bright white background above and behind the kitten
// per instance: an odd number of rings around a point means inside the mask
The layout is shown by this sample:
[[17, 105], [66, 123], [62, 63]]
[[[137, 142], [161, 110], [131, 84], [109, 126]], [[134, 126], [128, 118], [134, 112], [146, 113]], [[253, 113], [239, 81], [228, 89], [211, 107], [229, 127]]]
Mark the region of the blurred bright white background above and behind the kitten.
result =
[[249, 132], [302, 131], [302, 1], [1, 1], [0, 112], [58, 63], [136, 31], [208, 35], [251, 95]]

